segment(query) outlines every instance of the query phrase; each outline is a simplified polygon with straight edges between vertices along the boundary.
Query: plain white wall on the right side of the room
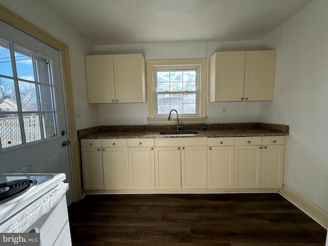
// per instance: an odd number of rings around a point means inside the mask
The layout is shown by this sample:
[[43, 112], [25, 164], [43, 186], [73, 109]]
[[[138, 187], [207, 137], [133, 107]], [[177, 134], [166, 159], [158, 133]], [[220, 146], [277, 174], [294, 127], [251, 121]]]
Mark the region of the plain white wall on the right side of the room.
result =
[[315, 0], [263, 39], [277, 50], [274, 100], [259, 121], [290, 126], [284, 183], [328, 211], [328, 1]]

